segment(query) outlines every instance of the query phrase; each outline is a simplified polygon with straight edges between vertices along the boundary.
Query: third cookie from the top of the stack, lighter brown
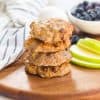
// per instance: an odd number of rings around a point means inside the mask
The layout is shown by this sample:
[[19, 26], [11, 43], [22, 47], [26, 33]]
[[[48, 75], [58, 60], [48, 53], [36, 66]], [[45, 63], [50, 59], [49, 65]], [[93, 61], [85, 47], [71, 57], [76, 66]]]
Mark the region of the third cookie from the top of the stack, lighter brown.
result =
[[33, 53], [30, 51], [29, 62], [36, 66], [60, 66], [62, 63], [69, 63], [71, 54], [69, 51], [59, 51], [56, 53]]

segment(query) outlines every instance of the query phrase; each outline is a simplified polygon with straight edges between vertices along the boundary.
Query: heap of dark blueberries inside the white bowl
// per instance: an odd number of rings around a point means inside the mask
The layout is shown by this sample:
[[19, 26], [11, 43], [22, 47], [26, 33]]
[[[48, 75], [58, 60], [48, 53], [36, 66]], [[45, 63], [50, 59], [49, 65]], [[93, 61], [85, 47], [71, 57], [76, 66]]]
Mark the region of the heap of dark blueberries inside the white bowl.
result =
[[77, 5], [72, 15], [82, 20], [100, 20], [100, 3], [84, 1]]

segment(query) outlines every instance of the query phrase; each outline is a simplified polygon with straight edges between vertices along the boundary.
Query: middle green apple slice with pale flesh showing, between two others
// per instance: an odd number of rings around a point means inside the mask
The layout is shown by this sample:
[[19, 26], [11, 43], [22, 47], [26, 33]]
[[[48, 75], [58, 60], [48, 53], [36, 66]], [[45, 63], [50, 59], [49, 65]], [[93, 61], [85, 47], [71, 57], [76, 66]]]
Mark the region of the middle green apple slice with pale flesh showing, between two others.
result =
[[72, 45], [70, 48], [72, 56], [87, 62], [100, 63], [100, 55], [89, 52], [88, 50]]

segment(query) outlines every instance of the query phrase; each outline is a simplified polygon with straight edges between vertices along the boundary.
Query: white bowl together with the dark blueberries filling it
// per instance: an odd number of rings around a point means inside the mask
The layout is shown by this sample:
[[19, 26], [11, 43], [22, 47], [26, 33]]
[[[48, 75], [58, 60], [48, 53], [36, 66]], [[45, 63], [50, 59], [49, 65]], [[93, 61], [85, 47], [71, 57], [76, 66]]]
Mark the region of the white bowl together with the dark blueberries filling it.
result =
[[68, 17], [81, 31], [100, 35], [100, 2], [83, 1], [68, 11]]

